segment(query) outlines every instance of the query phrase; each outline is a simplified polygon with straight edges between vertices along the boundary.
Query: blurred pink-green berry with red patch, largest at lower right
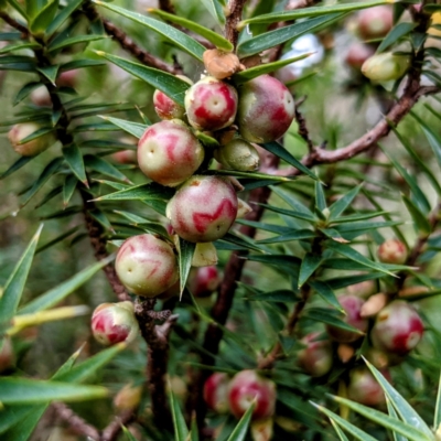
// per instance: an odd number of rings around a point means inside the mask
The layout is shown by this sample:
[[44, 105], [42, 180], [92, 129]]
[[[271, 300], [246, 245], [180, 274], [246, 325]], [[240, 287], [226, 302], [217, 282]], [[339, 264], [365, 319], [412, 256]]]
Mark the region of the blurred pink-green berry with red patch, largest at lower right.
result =
[[406, 355], [418, 345], [423, 332], [424, 326], [413, 306], [397, 300], [378, 313], [370, 337], [374, 347]]

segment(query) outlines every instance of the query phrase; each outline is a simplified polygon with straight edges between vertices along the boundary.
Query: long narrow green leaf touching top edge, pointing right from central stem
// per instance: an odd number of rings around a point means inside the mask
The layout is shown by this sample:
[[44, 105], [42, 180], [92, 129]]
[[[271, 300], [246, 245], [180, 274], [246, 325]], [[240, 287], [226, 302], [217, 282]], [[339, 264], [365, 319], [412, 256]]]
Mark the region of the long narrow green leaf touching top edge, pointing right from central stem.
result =
[[243, 20], [239, 23], [240, 28], [250, 23], [276, 23], [279, 21], [291, 21], [304, 19], [305, 17], [327, 15], [335, 12], [351, 12], [359, 9], [376, 7], [379, 4], [387, 4], [385, 0], [361, 1], [356, 3], [335, 3], [330, 6], [319, 6], [313, 8], [295, 9], [292, 11], [278, 11], [268, 14], [254, 17], [252, 19]]

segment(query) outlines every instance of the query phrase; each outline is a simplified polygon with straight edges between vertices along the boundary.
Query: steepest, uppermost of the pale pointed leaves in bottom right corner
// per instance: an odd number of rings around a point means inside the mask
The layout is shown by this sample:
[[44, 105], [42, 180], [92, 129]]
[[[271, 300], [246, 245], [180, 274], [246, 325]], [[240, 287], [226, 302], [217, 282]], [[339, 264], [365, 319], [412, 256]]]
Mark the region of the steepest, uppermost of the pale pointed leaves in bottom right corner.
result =
[[433, 434], [426, 422], [422, 420], [422, 418], [413, 410], [413, 408], [406, 401], [406, 399], [398, 394], [398, 391], [390, 385], [390, 383], [377, 368], [375, 368], [369, 362], [365, 362], [402, 421], [411, 423], [415, 429], [424, 434], [424, 438], [422, 438], [421, 441], [423, 439], [433, 440]]

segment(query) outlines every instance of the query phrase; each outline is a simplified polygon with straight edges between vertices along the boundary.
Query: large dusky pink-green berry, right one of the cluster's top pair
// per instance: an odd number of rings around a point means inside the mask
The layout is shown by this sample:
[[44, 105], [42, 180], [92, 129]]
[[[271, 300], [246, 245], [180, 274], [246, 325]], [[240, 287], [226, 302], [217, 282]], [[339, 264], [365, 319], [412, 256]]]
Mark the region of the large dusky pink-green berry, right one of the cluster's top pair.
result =
[[294, 99], [288, 88], [269, 75], [261, 75], [239, 87], [237, 121], [244, 139], [276, 141], [294, 119]]

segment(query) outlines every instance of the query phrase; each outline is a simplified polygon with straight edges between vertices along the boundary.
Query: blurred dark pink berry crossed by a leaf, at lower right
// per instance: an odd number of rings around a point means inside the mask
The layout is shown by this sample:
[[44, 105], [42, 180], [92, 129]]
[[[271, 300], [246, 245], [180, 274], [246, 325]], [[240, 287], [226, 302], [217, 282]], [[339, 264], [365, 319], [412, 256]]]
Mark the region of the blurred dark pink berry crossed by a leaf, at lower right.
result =
[[[338, 302], [346, 312], [346, 315], [342, 320], [348, 325], [356, 327], [362, 332], [366, 332], [368, 321], [359, 315], [364, 301], [355, 295], [340, 295]], [[326, 325], [326, 331], [331, 338], [340, 343], [355, 342], [363, 336], [356, 332], [345, 331], [330, 324]]]

